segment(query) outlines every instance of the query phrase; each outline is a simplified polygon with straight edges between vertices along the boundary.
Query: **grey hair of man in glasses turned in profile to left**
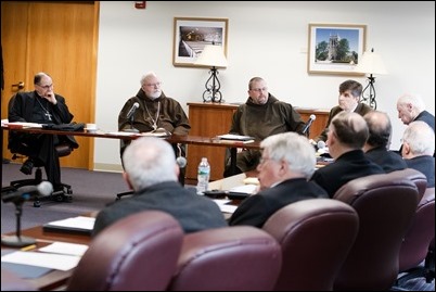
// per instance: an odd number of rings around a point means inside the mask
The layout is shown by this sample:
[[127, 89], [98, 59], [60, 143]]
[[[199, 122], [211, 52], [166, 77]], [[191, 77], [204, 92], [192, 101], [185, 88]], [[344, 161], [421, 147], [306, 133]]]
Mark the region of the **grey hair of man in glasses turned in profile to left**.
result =
[[310, 178], [317, 164], [313, 145], [296, 132], [270, 136], [260, 142], [260, 148], [274, 161], [285, 161], [290, 170]]

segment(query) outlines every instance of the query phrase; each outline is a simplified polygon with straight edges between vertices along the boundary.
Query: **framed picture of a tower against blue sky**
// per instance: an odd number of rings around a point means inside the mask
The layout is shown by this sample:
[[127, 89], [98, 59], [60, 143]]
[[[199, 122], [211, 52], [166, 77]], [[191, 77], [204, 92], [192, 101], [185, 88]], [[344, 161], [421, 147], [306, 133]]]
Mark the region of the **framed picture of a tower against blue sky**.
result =
[[367, 46], [367, 25], [309, 24], [307, 72], [309, 74], [355, 75]]

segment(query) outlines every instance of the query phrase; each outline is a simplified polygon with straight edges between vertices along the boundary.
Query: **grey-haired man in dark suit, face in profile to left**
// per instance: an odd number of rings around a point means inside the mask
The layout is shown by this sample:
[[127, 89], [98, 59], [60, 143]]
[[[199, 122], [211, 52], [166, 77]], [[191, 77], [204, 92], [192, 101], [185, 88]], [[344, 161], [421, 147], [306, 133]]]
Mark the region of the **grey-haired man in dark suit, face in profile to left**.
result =
[[307, 181], [316, 166], [315, 149], [296, 132], [277, 134], [261, 141], [257, 166], [260, 191], [245, 199], [230, 217], [229, 225], [261, 228], [278, 210], [315, 198], [329, 198], [317, 183]]

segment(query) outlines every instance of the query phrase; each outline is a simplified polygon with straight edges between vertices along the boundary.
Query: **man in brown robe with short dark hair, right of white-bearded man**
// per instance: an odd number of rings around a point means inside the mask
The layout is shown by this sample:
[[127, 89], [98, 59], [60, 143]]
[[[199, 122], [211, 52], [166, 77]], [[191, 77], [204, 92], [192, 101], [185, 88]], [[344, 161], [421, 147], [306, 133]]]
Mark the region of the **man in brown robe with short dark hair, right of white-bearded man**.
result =
[[[230, 134], [251, 136], [262, 140], [268, 136], [295, 131], [303, 135], [305, 122], [294, 107], [286, 102], [279, 101], [269, 91], [267, 82], [260, 77], [253, 77], [248, 82], [248, 99], [238, 107], [232, 117]], [[306, 134], [308, 135], [308, 134]], [[260, 151], [239, 149], [236, 155], [236, 170], [231, 172], [230, 152], [226, 153], [225, 177], [249, 172], [259, 163]]]

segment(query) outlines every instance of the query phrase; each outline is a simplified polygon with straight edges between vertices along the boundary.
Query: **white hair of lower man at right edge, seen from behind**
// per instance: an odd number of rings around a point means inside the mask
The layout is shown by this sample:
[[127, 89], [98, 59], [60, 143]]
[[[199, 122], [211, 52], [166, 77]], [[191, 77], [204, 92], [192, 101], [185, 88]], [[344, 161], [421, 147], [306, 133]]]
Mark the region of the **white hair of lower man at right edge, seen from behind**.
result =
[[415, 120], [409, 124], [402, 135], [413, 156], [433, 155], [435, 152], [435, 132], [427, 123]]

